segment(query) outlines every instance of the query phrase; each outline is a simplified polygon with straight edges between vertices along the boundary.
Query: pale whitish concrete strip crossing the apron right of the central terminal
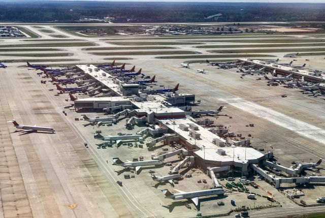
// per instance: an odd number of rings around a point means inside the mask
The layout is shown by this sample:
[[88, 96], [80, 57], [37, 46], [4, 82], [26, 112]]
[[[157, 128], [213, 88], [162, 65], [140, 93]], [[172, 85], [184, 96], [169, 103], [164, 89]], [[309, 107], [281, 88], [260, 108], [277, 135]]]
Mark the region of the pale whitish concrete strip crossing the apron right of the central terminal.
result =
[[262, 117], [270, 122], [277, 124], [280, 127], [294, 131], [304, 137], [325, 144], [325, 130], [313, 126], [307, 122], [289, 117], [273, 109], [255, 104], [250, 101], [246, 101], [239, 97], [218, 98], [218, 100], [254, 114], [255, 116]]

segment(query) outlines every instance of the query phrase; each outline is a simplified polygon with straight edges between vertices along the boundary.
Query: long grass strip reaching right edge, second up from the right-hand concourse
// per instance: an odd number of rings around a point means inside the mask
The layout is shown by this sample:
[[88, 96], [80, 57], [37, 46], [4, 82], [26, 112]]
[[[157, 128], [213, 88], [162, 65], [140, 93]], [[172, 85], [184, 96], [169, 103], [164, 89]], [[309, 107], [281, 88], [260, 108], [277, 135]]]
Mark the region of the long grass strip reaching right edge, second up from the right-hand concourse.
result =
[[325, 43], [308, 43], [308, 44], [258, 44], [258, 45], [200, 45], [197, 48], [261, 48], [261, 47], [314, 47], [314, 46], [325, 46]]

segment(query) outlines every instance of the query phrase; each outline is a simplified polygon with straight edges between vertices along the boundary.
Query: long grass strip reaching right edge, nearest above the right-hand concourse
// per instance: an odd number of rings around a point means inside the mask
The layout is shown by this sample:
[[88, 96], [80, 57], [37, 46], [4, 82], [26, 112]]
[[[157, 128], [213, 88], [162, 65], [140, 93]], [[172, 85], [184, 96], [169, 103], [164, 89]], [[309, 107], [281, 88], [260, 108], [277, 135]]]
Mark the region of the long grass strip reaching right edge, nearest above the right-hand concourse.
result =
[[324, 51], [325, 48], [279, 48], [279, 49], [242, 49], [242, 50], [209, 50], [211, 53], [232, 54], [232, 53], [278, 53], [278, 52], [316, 52]]

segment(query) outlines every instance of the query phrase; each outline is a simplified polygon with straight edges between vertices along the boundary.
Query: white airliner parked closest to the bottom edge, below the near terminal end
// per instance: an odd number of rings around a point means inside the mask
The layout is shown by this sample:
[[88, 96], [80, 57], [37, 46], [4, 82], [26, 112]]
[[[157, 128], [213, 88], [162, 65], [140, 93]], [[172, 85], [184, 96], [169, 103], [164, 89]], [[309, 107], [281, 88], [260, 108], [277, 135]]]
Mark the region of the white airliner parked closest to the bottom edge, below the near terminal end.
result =
[[225, 191], [223, 189], [210, 189], [210, 190], [201, 190], [196, 192], [183, 192], [180, 190], [176, 190], [179, 192], [178, 194], [172, 194], [167, 189], [161, 190], [165, 194], [165, 198], [171, 198], [174, 200], [181, 200], [181, 199], [191, 199], [193, 203], [198, 206], [199, 205], [199, 197], [202, 196], [211, 196], [211, 195], [223, 195]]

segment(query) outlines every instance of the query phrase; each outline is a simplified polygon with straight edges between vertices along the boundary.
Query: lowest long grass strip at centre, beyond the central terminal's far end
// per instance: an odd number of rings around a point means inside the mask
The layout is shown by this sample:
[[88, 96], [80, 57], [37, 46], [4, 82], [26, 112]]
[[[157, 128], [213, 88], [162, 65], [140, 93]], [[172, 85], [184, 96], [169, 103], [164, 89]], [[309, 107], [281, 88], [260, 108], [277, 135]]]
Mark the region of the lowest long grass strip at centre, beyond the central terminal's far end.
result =
[[91, 52], [93, 55], [165, 55], [165, 54], [201, 54], [196, 51], [129, 51], [129, 52]]

